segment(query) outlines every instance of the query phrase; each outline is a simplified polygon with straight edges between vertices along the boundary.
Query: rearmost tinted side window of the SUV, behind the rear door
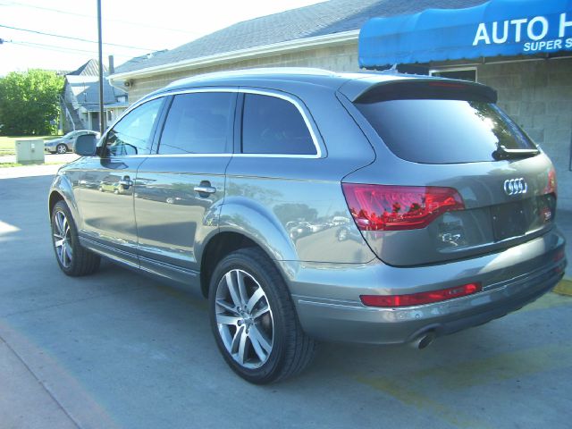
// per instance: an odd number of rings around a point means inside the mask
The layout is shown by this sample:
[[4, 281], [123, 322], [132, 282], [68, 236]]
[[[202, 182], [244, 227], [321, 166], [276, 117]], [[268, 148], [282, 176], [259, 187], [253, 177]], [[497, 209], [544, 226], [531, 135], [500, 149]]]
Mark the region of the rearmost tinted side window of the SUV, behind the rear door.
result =
[[298, 108], [282, 98], [257, 94], [244, 96], [242, 152], [316, 154], [314, 141]]

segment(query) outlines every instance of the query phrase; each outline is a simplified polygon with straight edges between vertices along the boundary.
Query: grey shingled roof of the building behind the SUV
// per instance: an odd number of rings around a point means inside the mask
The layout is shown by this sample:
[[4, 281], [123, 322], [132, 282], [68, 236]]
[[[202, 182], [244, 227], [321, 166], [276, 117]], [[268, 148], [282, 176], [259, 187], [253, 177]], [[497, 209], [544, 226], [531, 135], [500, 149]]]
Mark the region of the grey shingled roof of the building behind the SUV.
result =
[[459, 9], [485, 0], [330, 0], [282, 13], [243, 21], [154, 55], [137, 57], [116, 67], [115, 73], [181, 63], [291, 40], [315, 38], [359, 29], [378, 16], [418, 13], [425, 9]]

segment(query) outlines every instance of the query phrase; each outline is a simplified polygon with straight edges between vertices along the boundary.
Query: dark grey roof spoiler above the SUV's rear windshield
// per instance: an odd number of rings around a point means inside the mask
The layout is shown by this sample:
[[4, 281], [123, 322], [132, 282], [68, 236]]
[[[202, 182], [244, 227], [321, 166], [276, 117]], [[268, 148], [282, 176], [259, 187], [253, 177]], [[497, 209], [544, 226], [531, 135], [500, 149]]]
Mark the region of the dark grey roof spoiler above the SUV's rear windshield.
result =
[[413, 78], [369, 83], [367, 85], [367, 80], [353, 80], [340, 90], [352, 103], [427, 98], [496, 103], [498, 98], [494, 89], [467, 80]]

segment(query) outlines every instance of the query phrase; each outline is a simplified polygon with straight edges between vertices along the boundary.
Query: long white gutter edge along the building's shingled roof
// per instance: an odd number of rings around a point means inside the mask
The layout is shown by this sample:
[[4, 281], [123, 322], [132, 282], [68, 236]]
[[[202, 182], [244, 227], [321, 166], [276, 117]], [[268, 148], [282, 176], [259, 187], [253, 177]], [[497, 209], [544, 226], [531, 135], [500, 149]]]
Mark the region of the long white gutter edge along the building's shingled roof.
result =
[[284, 53], [297, 50], [300, 47], [311, 48], [315, 46], [330, 46], [344, 42], [357, 40], [359, 29], [350, 31], [342, 31], [339, 33], [326, 34], [323, 36], [315, 36], [313, 38], [296, 38], [285, 42], [273, 43], [265, 46], [249, 47], [247, 49], [239, 49], [236, 51], [223, 52], [222, 54], [199, 56], [198, 58], [190, 58], [177, 63], [166, 63], [156, 65], [155, 67], [147, 67], [144, 69], [124, 71], [122, 73], [114, 73], [108, 77], [109, 80], [125, 80], [130, 78], [144, 78], [161, 71], [180, 71], [183, 69], [198, 68], [199, 66], [214, 65], [216, 63], [224, 63], [229, 60], [248, 59], [257, 56], [265, 56], [269, 54]]

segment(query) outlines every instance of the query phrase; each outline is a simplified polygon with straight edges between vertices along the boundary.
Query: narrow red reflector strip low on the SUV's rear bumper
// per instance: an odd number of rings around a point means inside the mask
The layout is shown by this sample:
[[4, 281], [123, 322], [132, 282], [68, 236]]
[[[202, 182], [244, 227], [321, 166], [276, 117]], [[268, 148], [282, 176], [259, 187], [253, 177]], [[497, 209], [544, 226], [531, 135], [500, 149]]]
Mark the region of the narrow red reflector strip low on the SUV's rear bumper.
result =
[[481, 283], [476, 282], [449, 289], [431, 290], [408, 295], [360, 295], [359, 299], [367, 307], [411, 307], [466, 297], [480, 290], [482, 290]]

